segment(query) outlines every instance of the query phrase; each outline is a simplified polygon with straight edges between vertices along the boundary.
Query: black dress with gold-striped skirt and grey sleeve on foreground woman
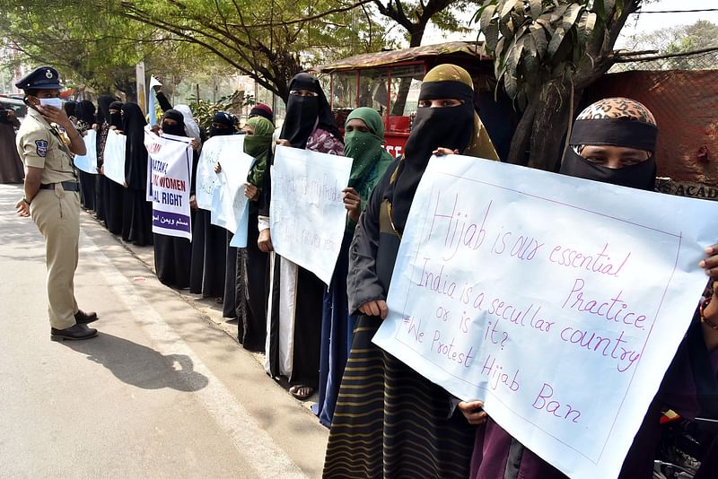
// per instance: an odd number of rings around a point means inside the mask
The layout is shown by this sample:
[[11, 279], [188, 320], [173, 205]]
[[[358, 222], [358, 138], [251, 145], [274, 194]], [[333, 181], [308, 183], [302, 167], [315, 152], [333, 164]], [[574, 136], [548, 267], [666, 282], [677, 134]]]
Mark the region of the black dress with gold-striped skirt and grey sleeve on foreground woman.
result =
[[[391, 170], [391, 169], [390, 169]], [[389, 171], [390, 173], [390, 171]], [[399, 245], [382, 201], [382, 179], [350, 250], [350, 311], [385, 299]], [[442, 388], [372, 344], [381, 318], [360, 316], [339, 388], [324, 477], [468, 477], [475, 428]]]

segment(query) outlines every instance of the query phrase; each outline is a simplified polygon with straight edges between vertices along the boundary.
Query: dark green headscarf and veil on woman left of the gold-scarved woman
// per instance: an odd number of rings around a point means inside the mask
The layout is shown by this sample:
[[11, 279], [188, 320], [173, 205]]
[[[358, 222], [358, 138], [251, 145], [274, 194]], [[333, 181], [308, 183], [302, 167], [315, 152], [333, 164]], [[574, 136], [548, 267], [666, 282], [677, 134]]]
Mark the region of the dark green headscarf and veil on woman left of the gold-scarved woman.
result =
[[[368, 132], [354, 130], [344, 135], [344, 155], [354, 159], [348, 186], [355, 188], [361, 196], [363, 210], [372, 189], [384, 175], [391, 161], [394, 161], [394, 157], [382, 146], [384, 123], [375, 109], [368, 107], [355, 109], [346, 117], [345, 129], [353, 119], [362, 120], [369, 128]], [[352, 223], [347, 223], [348, 230], [354, 229]]]

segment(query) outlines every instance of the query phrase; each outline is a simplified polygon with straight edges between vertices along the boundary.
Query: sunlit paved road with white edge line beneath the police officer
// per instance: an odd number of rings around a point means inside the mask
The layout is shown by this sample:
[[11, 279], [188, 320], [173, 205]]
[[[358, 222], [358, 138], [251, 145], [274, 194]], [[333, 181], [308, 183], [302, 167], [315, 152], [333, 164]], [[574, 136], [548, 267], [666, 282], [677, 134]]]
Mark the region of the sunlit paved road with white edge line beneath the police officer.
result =
[[75, 290], [101, 335], [51, 342], [44, 245], [14, 216], [20, 197], [0, 185], [0, 477], [320, 476], [328, 431], [203, 302], [157, 281], [152, 248], [87, 213]]

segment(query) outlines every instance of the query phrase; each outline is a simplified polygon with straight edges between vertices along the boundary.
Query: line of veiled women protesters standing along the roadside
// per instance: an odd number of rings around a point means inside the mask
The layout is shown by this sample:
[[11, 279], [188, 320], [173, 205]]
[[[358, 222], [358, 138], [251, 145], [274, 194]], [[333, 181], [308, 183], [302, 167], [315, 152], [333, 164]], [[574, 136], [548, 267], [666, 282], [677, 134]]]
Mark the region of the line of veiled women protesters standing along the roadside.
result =
[[[232, 234], [212, 224], [210, 213], [197, 209], [192, 196], [191, 242], [152, 233], [152, 209], [144, 195], [146, 120], [135, 103], [110, 97], [100, 97], [97, 108], [86, 100], [65, 103], [79, 132], [97, 131], [100, 173], [108, 136], [127, 137], [126, 183], [81, 174], [83, 207], [123, 240], [153, 245], [162, 283], [221, 303], [224, 317], [238, 319], [243, 347], [265, 353], [268, 375], [284, 377], [298, 399], [317, 398], [314, 411], [330, 428], [326, 477], [565, 477], [488, 417], [482, 398], [460, 402], [372, 344], [387, 316], [398, 247], [429, 159], [438, 155], [451, 161], [451, 153], [460, 152], [500, 161], [475, 108], [473, 83], [465, 70], [439, 65], [425, 75], [416, 120], [399, 159], [384, 149], [384, 123], [374, 109], [352, 111], [342, 132], [311, 74], [293, 77], [278, 135], [266, 105], [256, 105], [241, 130], [231, 114], [217, 111], [204, 131], [187, 105], [172, 107], [162, 91], [156, 94], [163, 110], [160, 133], [192, 138], [193, 187], [207, 138], [246, 135], [244, 152], [256, 159], [245, 184], [250, 200], [248, 246], [231, 247]], [[12, 124], [12, 118], [0, 117], [0, 126], [8, 121]], [[660, 161], [654, 155], [657, 135], [656, 122], [641, 103], [600, 100], [576, 120], [561, 173], [652, 190]], [[354, 159], [344, 189], [344, 240], [328, 286], [273, 250], [271, 165], [276, 144]], [[3, 174], [16, 176], [15, 170]], [[718, 245], [706, 248], [697, 267], [718, 279]], [[704, 380], [698, 375], [709, 371], [715, 381], [710, 353], [718, 347], [716, 325], [718, 300], [712, 292], [687, 335], [703, 341], [681, 344], [661, 392], [652, 398], [621, 477], [652, 476], [662, 408], [687, 417], [696, 414], [696, 383]]]

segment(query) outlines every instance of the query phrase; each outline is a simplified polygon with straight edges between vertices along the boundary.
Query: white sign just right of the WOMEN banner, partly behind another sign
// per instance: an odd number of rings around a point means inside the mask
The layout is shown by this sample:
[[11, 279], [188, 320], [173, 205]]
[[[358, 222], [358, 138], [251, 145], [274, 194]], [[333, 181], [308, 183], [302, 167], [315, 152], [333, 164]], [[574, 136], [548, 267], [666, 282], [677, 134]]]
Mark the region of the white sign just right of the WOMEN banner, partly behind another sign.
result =
[[202, 145], [202, 154], [197, 163], [197, 188], [195, 196], [197, 206], [203, 210], [212, 209], [212, 195], [219, 185], [219, 177], [215, 173], [217, 161], [224, 164], [237, 158], [244, 152], [244, 135], [213, 136]]

